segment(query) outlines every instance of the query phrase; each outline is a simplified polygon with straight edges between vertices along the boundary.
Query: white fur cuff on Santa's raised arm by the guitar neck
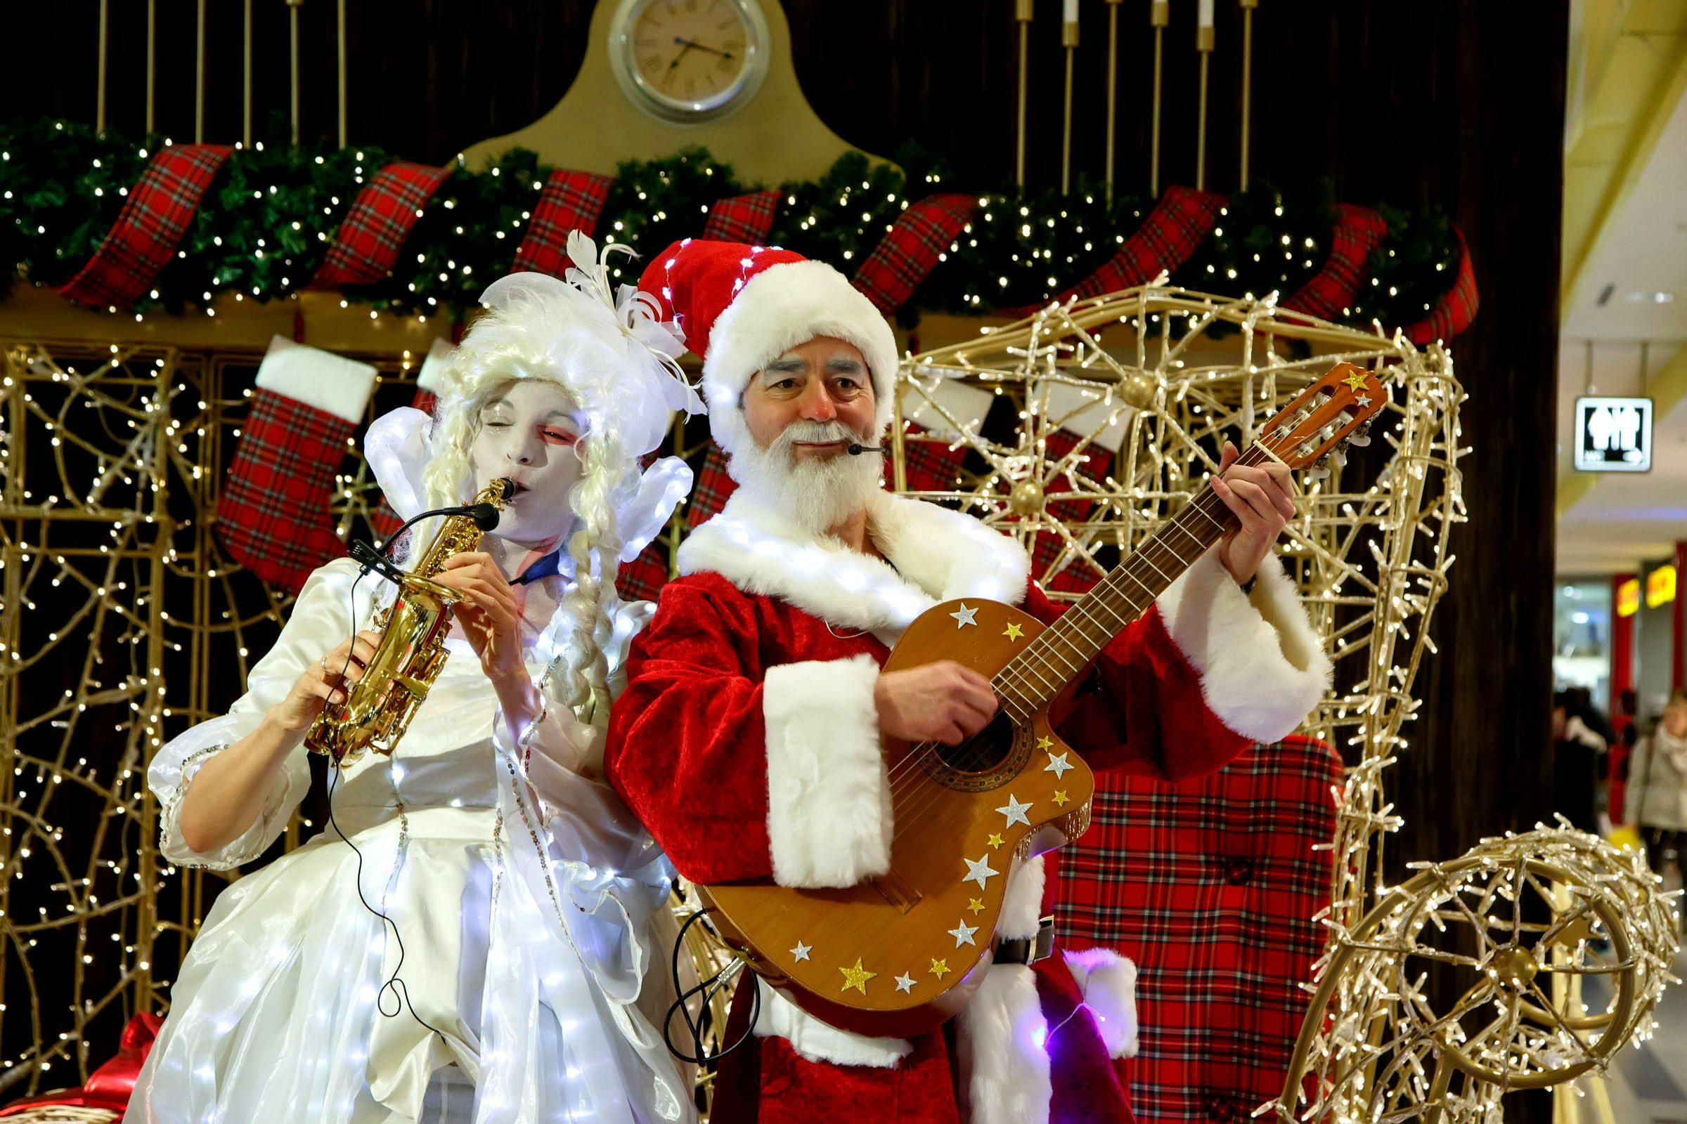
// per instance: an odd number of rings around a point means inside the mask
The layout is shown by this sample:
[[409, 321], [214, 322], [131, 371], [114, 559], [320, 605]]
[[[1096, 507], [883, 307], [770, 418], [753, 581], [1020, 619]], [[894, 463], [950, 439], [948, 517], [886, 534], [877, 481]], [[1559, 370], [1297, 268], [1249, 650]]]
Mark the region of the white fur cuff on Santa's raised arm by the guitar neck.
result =
[[1218, 718], [1253, 741], [1294, 731], [1329, 689], [1329, 657], [1282, 565], [1267, 558], [1243, 595], [1218, 549], [1159, 595], [1161, 618], [1201, 676]]

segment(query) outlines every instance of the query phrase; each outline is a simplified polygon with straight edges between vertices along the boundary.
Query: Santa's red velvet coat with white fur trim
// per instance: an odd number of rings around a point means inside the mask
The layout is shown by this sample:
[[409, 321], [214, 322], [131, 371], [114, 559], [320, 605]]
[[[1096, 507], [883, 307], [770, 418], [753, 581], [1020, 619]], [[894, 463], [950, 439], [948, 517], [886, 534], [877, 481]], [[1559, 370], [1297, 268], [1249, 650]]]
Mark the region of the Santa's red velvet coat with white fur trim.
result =
[[[887, 645], [960, 597], [1059, 612], [1024, 551], [975, 519], [879, 494], [867, 529], [884, 561], [739, 490], [680, 548], [682, 576], [633, 642], [606, 768], [692, 881], [886, 873], [872, 696]], [[1093, 768], [1193, 777], [1289, 733], [1328, 676], [1280, 566], [1243, 595], [1208, 554], [1102, 652], [1056, 730]], [[999, 935], [1036, 934], [1043, 883], [1041, 859], [1019, 870]], [[1135, 1048], [1134, 982], [1129, 961], [1093, 949], [992, 966], [958, 1020], [908, 1041], [837, 1030], [761, 986], [759, 1041], [720, 1063], [714, 1119], [1125, 1122], [1112, 1058]]]

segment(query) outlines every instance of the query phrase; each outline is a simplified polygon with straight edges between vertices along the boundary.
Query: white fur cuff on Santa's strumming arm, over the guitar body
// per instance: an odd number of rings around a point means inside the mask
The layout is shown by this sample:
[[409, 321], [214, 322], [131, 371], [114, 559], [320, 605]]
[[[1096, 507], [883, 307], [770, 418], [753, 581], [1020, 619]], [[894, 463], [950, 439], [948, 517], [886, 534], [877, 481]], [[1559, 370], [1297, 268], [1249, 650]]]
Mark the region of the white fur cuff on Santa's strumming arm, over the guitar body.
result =
[[891, 870], [891, 789], [870, 656], [768, 669], [768, 841], [781, 886], [854, 886]]

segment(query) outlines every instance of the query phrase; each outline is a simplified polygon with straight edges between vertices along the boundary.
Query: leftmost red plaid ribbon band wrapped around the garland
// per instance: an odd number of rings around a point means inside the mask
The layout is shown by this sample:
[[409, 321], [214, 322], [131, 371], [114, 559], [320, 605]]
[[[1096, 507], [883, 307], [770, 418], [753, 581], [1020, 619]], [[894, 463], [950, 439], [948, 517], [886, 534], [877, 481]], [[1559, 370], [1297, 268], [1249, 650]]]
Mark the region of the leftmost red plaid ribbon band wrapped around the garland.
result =
[[100, 249], [59, 293], [96, 308], [127, 307], [145, 293], [169, 265], [228, 152], [223, 145], [160, 148], [130, 189]]

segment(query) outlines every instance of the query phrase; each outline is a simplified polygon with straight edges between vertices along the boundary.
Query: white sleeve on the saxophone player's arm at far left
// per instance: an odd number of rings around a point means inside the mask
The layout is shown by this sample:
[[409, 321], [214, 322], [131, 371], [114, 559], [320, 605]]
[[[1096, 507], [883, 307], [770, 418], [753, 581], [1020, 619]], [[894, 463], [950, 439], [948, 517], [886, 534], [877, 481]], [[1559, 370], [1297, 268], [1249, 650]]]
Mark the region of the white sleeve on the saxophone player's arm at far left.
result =
[[[170, 863], [229, 870], [263, 854], [287, 827], [294, 809], [310, 789], [310, 765], [304, 743], [287, 755], [287, 763], [275, 779], [256, 822], [216, 851], [194, 851], [182, 839], [182, 794], [187, 792], [201, 765], [258, 728], [310, 661], [351, 635], [351, 586], [356, 576], [358, 565], [349, 558], [331, 561], [312, 573], [299, 600], [294, 602], [294, 612], [275, 647], [253, 666], [246, 677], [246, 693], [234, 701], [228, 715], [202, 721], [170, 738], [152, 758], [152, 765], [147, 767], [147, 785], [160, 806], [159, 849]], [[373, 593], [373, 583], [366, 585]], [[361, 607], [366, 607], [368, 600], [368, 593], [359, 590]]]

